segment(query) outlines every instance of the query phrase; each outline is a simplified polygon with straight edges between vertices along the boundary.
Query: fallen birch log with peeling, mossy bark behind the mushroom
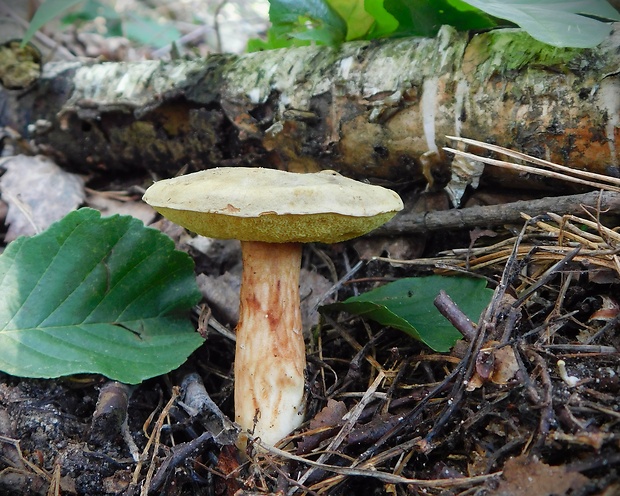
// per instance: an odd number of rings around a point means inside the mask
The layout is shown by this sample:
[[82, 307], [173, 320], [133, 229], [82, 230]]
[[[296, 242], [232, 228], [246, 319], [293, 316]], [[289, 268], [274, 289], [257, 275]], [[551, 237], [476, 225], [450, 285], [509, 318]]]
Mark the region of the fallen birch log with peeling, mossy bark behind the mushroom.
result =
[[[617, 177], [618, 46], [619, 24], [588, 50], [444, 27], [338, 49], [49, 63], [35, 88], [0, 91], [0, 118], [78, 170], [332, 168], [441, 186], [452, 171], [440, 152], [455, 135]], [[547, 186], [510, 185], [520, 181]]]

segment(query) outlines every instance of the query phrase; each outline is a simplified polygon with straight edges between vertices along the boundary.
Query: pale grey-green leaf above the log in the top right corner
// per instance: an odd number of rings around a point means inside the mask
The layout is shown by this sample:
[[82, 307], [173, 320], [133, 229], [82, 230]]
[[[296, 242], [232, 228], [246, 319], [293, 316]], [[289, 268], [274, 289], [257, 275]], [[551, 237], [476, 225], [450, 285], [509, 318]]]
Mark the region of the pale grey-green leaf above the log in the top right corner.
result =
[[605, 0], [468, 0], [469, 4], [509, 20], [533, 38], [556, 47], [592, 48], [611, 32], [611, 26], [592, 16], [620, 21]]

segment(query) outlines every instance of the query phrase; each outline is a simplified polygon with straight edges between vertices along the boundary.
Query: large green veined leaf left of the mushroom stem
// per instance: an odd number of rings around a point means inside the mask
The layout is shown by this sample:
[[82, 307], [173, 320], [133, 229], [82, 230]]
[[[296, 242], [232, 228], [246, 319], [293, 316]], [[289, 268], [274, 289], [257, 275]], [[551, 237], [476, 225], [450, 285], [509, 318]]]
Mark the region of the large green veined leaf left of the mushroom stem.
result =
[[0, 255], [0, 370], [22, 377], [103, 374], [136, 384], [202, 343], [187, 318], [193, 262], [130, 216], [71, 212]]

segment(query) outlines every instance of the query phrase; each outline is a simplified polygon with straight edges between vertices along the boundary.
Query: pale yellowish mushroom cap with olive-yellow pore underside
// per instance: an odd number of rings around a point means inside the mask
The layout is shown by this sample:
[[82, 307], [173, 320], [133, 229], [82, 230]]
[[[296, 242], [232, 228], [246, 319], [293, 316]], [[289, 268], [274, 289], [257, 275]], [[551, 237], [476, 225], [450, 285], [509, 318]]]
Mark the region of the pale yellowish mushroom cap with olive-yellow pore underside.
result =
[[394, 192], [334, 171], [298, 174], [222, 167], [158, 181], [143, 200], [203, 236], [269, 243], [336, 243], [402, 210]]

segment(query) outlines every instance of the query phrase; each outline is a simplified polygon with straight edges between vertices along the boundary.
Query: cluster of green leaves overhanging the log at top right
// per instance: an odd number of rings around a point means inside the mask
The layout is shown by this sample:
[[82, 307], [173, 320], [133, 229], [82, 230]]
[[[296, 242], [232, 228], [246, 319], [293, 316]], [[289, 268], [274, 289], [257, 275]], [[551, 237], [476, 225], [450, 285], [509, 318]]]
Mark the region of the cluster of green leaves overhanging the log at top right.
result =
[[518, 26], [549, 45], [591, 48], [620, 14], [605, 0], [271, 0], [269, 18], [267, 41], [252, 40], [250, 51], [428, 37], [442, 25], [461, 31]]

